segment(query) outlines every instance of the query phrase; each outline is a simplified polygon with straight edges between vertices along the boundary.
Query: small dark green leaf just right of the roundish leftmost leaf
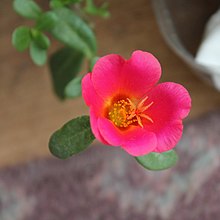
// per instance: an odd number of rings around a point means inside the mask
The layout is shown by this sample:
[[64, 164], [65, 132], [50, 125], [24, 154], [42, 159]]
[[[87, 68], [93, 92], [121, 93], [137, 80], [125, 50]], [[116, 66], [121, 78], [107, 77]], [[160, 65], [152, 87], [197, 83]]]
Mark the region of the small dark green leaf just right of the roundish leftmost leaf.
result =
[[36, 29], [32, 29], [31, 36], [32, 40], [37, 44], [39, 48], [46, 50], [50, 46], [50, 40], [44, 33]]

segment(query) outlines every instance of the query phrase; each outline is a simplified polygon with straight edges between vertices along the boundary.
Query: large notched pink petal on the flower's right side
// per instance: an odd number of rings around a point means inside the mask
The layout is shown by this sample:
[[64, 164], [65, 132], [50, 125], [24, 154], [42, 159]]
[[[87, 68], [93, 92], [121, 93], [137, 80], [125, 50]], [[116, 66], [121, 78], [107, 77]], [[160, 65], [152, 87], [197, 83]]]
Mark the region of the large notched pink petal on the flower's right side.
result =
[[148, 101], [154, 103], [145, 113], [154, 122], [145, 128], [156, 134], [157, 152], [172, 149], [182, 135], [182, 119], [190, 111], [189, 93], [179, 84], [161, 83], [149, 93]]

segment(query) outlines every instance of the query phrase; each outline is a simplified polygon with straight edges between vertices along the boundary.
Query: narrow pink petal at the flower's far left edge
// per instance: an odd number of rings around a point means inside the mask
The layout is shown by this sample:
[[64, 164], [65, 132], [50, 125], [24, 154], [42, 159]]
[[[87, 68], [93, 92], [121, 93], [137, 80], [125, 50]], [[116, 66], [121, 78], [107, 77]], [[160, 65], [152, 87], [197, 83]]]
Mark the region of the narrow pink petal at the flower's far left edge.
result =
[[82, 96], [88, 106], [92, 106], [96, 115], [103, 114], [103, 99], [96, 93], [91, 81], [91, 73], [86, 74], [82, 79]]

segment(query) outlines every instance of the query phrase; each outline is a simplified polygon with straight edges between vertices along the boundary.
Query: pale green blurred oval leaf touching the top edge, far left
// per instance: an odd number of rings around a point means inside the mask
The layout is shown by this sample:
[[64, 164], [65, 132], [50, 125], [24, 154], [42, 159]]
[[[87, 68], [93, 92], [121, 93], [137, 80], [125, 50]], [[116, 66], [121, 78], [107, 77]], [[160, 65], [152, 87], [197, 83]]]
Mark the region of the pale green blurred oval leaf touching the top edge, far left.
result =
[[41, 8], [32, 0], [14, 0], [13, 7], [19, 15], [25, 18], [37, 19], [42, 12]]

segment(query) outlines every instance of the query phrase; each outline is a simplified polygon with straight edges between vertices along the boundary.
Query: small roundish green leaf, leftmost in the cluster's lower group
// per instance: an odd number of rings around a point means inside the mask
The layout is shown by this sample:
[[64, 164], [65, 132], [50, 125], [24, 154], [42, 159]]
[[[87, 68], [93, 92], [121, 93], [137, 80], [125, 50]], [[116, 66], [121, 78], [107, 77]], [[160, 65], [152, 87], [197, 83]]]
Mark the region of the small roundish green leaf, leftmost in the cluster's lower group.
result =
[[31, 42], [30, 29], [28, 27], [18, 27], [12, 34], [12, 44], [18, 51], [27, 49]]

